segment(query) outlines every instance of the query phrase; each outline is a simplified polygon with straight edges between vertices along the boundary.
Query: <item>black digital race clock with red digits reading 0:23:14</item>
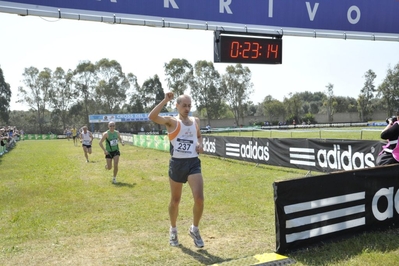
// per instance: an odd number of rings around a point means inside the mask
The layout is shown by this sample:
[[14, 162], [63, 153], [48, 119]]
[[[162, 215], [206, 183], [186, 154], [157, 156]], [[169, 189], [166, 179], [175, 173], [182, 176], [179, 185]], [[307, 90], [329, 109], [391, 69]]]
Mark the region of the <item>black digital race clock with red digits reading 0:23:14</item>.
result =
[[215, 33], [214, 61], [242, 64], [281, 64], [281, 36], [249, 37]]

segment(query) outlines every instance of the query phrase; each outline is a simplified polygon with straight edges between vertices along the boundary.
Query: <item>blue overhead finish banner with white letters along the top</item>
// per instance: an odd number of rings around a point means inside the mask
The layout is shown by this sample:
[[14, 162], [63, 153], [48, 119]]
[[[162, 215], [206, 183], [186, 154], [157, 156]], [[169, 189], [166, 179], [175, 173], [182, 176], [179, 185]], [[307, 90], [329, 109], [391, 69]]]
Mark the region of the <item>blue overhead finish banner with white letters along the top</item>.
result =
[[[59, 14], [59, 18], [73, 18], [63, 15], [69, 13], [78, 14], [75, 19], [82, 19], [82, 15], [115, 16], [165, 21], [164, 26], [172, 22], [219, 28], [234, 26], [243, 32], [245, 28], [273, 27], [281, 34], [285, 29], [399, 33], [399, 2], [394, 0], [13, 0], [0, 1], [0, 7], [45, 10]], [[46, 16], [46, 13], [37, 15]]]

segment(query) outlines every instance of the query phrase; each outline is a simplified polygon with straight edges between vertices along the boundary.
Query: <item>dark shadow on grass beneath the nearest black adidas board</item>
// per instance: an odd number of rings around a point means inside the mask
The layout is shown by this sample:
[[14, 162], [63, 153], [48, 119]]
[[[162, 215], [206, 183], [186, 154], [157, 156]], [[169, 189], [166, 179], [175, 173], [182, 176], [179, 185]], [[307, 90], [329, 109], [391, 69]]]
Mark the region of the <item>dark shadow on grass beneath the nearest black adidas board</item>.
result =
[[[365, 253], [387, 253], [399, 249], [399, 229], [372, 231], [309, 246], [287, 254], [304, 265], [344, 263]], [[317, 254], [317, 256], [315, 256]], [[361, 259], [360, 259], [361, 260]]]

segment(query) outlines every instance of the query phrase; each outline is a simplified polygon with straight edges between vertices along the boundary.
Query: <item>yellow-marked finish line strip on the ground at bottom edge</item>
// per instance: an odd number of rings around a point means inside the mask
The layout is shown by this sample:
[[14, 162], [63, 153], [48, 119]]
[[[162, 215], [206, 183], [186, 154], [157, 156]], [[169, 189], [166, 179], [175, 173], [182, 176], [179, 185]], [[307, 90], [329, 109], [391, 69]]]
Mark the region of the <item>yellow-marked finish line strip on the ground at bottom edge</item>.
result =
[[262, 265], [262, 266], [281, 266], [294, 264], [295, 261], [277, 253], [263, 253], [241, 259], [212, 264], [213, 266], [242, 266], [242, 265]]

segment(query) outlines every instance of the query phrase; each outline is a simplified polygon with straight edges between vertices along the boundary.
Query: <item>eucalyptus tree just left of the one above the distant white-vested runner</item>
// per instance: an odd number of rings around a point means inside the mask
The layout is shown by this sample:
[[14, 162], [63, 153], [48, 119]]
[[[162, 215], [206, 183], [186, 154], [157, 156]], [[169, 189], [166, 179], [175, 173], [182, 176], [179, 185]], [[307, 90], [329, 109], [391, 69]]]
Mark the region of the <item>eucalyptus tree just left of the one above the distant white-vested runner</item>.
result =
[[53, 107], [54, 116], [59, 117], [62, 127], [68, 125], [68, 112], [75, 103], [78, 92], [72, 82], [73, 71], [64, 71], [61, 67], [57, 67], [53, 73], [53, 90], [51, 93], [51, 105]]

